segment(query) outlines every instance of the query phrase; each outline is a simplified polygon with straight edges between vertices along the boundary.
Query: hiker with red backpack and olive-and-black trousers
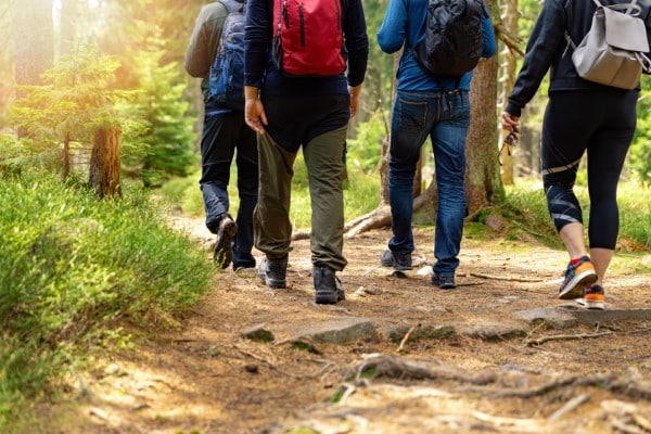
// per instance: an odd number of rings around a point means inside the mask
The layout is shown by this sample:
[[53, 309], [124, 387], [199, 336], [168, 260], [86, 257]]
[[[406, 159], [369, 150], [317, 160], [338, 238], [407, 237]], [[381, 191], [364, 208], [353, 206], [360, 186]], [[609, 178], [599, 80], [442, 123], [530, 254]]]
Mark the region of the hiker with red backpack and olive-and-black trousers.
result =
[[[359, 107], [369, 43], [360, 0], [316, 0], [311, 11], [301, 12], [291, 9], [293, 4], [248, 0], [247, 5], [245, 119], [258, 138], [254, 239], [265, 253], [258, 275], [270, 288], [286, 288], [291, 181], [303, 146], [316, 303], [335, 304], [345, 297], [335, 276], [346, 266], [342, 155], [348, 120]], [[292, 43], [296, 52], [283, 50]]]

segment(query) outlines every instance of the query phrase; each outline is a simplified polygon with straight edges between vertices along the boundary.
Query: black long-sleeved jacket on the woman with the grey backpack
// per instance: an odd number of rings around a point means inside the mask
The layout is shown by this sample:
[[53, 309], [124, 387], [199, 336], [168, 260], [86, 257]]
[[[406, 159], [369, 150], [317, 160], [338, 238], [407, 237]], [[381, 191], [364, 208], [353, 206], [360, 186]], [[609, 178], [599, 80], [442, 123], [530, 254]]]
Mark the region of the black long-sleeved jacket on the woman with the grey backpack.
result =
[[[629, 3], [628, 0], [600, 0], [604, 5]], [[638, 0], [638, 15], [647, 25], [651, 37], [651, 4]], [[520, 116], [522, 108], [534, 97], [540, 81], [550, 71], [549, 93], [563, 90], [602, 88], [602, 85], [584, 80], [572, 63], [573, 49], [565, 39], [565, 30], [578, 44], [590, 29], [596, 10], [592, 0], [545, 0], [534, 30], [529, 37], [522, 69], [515, 80], [506, 112]], [[651, 39], [649, 39], [651, 46]]]

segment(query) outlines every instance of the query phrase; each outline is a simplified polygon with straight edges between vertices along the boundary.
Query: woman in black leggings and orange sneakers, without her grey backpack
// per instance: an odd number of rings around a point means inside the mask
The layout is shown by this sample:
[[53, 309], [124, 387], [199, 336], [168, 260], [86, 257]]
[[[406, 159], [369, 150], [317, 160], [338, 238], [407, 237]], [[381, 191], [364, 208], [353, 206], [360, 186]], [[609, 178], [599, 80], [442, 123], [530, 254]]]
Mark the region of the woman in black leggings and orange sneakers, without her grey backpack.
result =
[[[644, 20], [649, 33], [650, 5], [643, 0], [637, 3], [641, 10], [638, 16]], [[603, 278], [620, 229], [617, 182], [635, 132], [640, 89], [638, 85], [633, 90], [624, 90], [578, 77], [565, 31], [572, 40], [580, 41], [590, 29], [595, 10], [596, 5], [590, 1], [544, 3], [527, 42], [524, 63], [501, 114], [501, 125], [505, 129], [519, 126], [523, 108], [551, 69], [540, 158], [549, 214], [570, 255], [558, 296], [561, 299], [580, 298], [588, 308], [603, 309]], [[573, 191], [586, 152], [590, 197], [589, 255], [582, 206]]]

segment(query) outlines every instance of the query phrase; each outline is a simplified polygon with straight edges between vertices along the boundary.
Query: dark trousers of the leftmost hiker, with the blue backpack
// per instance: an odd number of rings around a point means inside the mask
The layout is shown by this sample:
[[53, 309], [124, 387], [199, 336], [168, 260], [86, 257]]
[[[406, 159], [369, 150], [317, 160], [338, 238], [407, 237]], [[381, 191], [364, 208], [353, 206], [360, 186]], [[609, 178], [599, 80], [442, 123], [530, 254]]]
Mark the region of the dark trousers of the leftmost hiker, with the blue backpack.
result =
[[255, 132], [244, 123], [242, 112], [213, 112], [206, 106], [201, 138], [201, 191], [206, 210], [206, 227], [213, 233], [228, 215], [228, 183], [235, 155], [238, 166], [238, 233], [233, 243], [233, 268], [255, 267], [253, 210], [257, 203], [258, 156]]

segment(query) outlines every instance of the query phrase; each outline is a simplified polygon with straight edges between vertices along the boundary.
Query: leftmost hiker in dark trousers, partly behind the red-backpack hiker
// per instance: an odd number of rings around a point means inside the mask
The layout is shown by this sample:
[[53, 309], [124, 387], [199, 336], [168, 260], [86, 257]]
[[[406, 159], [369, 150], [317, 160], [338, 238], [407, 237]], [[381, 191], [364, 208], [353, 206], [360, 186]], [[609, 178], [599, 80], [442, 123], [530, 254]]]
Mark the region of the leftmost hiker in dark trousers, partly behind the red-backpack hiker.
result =
[[[254, 268], [253, 210], [257, 203], [258, 157], [255, 131], [244, 123], [243, 72], [234, 75], [239, 81], [240, 100], [231, 104], [215, 92], [215, 80], [221, 73], [216, 62], [222, 28], [229, 14], [242, 13], [243, 2], [215, 1], [202, 8], [186, 52], [186, 71], [201, 77], [204, 94], [204, 122], [201, 137], [200, 186], [206, 213], [206, 227], [217, 234], [215, 261], [222, 269], [232, 259], [233, 270]], [[232, 12], [231, 12], [232, 11]], [[238, 11], [238, 12], [235, 12]], [[234, 16], [234, 15], [233, 15]], [[242, 42], [243, 46], [243, 37]], [[243, 47], [241, 47], [243, 52]], [[242, 55], [241, 55], [242, 56]], [[224, 100], [224, 101], [222, 101]], [[237, 219], [229, 214], [228, 184], [231, 163], [235, 155], [238, 167], [238, 195], [240, 204]]]

